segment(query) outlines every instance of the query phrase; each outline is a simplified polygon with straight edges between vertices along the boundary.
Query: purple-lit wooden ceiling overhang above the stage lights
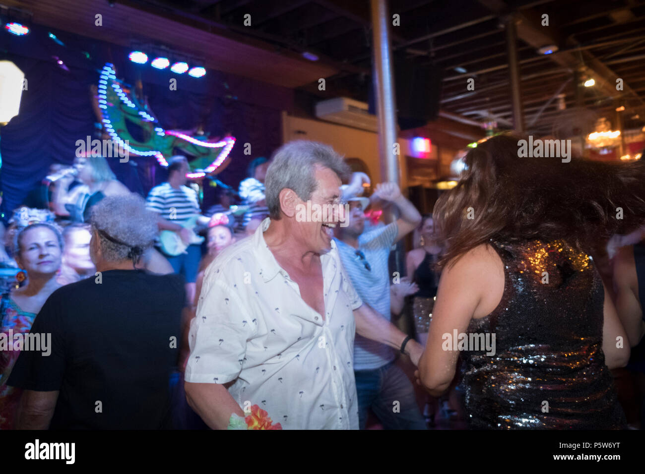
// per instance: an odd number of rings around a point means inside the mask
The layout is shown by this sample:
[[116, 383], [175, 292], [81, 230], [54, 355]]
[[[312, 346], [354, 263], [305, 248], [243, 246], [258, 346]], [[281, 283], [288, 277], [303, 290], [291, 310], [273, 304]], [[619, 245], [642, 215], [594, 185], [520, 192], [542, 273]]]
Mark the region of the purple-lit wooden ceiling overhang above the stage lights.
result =
[[[266, 83], [295, 88], [336, 74], [333, 64], [307, 61], [301, 55], [253, 37], [234, 34], [208, 22], [177, 17], [159, 8], [134, 6], [106, 0], [0, 0], [28, 10], [34, 23], [79, 35], [132, 46], [135, 41], [154, 41], [203, 57], [206, 67], [250, 77]], [[95, 26], [95, 15], [103, 26]]]

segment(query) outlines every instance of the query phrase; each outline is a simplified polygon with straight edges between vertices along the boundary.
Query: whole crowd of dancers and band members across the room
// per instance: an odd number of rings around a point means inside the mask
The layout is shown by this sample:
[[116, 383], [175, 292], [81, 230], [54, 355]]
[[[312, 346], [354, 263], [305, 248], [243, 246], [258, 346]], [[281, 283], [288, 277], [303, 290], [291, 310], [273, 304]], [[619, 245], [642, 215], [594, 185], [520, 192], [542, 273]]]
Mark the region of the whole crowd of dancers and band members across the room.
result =
[[207, 212], [185, 157], [146, 199], [103, 157], [52, 169], [46, 209], [3, 228], [0, 428], [627, 428], [645, 162], [519, 159], [501, 135], [465, 164], [431, 215], [310, 141]]

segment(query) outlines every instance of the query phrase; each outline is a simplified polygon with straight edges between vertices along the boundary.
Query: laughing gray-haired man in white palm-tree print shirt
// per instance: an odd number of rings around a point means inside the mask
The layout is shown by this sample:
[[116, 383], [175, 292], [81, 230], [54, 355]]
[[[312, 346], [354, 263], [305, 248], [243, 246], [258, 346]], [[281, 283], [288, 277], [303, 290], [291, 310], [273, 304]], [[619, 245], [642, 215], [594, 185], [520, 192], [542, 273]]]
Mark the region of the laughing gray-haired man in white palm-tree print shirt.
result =
[[362, 304], [342, 268], [332, 241], [342, 213], [303, 219], [303, 208], [339, 205], [348, 171], [329, 146], [281, 147], [266, 176], [271, 217], [206, 270], [185, 379], [211, 428], [244, 418], [255, 428], [358, 429], [355, 333], [417, 364], [422, 347]]

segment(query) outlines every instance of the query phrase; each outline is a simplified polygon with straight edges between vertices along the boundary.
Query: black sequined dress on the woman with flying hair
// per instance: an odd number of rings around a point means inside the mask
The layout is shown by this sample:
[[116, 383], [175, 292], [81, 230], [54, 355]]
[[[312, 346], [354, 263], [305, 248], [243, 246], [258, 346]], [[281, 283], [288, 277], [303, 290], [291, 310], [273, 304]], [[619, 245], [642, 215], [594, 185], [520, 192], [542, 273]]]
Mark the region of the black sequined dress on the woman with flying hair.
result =
[[504, 263], [504, 293], [467, 331], [494, 333], [495, 355], [461, 352], [470, 427], [624, 428], [602, 352], [604, 290], [593, 261], [564, 241], [490, 244]]

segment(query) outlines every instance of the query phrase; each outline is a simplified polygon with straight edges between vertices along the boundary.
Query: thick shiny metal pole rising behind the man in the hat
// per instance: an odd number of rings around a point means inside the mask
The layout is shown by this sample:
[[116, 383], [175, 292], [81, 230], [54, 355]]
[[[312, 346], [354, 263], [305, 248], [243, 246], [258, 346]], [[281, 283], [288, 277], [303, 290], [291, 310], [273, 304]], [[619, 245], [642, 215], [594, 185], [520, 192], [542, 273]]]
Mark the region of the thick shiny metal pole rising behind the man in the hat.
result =
[[399, 183], [399, 155], [393, 153], [397, 141], [394, 77], [392, 74], [392, 47], [390, 44], [390, 16], [386, 0], [371, 0], [373, 80], [379, 121], [379, 159], [382, 181]]

